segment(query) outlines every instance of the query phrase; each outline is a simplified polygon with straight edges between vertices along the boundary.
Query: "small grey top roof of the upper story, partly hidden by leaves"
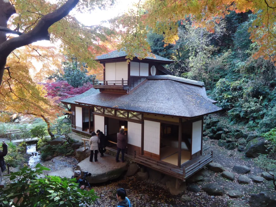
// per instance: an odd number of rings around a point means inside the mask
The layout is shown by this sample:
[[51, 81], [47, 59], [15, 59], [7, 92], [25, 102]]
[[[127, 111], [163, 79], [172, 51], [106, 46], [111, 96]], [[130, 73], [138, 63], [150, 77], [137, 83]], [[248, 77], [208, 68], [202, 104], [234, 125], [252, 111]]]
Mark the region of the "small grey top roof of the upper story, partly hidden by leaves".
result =
[[[151, 54], [153, 53], [148, 52], [148, 57], [146, 57], [145, 59], [160, 60], [168, 63], [174, 62], [173, 60], [163, 58], [155, 54], [153, 54], [154, 56], [151, 56]], [[127, 56], [127, 53], [121, 49], [121, 50], [115, 50], [115, 51], [109, 52], [107, 54], [103, 54], [101, 56], [97, 56], [95, 60], [104, 60], [104, 59], [118, 58], [118, 57], [125, 57], [125, 56]]]

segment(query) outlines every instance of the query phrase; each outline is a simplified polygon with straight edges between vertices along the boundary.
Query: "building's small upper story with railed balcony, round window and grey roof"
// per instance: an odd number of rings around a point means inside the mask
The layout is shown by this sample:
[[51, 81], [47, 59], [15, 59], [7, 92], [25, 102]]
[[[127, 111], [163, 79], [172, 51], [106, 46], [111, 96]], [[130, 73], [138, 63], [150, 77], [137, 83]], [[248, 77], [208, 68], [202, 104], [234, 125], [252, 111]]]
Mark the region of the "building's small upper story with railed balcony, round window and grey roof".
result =
[[149, 76], [173, 75], [163, 65], [174, 61], [149, 53], [148, 57], [140, 60], [134, 57], [128, 63], [125, 57], [126, 52], [116, 50], [107, 54], [97, 56], [104, 66], [103, 80], [93, 82], [95, 89], [107, 93], [129, 93], [141, 84]]

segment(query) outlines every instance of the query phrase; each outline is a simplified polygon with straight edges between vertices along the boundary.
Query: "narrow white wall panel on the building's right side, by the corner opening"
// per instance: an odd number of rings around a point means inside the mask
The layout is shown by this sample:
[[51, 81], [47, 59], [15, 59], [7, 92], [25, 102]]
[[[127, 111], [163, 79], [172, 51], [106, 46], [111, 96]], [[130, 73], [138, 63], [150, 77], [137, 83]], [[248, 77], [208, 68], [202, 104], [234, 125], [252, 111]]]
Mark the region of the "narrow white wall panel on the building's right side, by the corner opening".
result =
[[193, 122], [192, 154], [201, 150], [202, 120]]

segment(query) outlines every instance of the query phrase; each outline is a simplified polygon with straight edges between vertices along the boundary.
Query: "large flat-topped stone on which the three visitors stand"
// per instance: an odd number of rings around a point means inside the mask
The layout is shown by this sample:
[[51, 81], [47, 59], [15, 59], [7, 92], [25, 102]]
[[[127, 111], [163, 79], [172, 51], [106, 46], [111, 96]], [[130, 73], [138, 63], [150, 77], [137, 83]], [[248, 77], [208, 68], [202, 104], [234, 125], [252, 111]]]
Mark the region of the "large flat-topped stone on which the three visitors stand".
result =
[[90, 162], [89, 157], [77, 165], [77, 170], [88, 171], [91, 176], [87, 177], [89, 183], [103, 183], [119, 178], [127, 170], [127, 162], [116, 163], [111, 155], [98, 158], [98, 162]]

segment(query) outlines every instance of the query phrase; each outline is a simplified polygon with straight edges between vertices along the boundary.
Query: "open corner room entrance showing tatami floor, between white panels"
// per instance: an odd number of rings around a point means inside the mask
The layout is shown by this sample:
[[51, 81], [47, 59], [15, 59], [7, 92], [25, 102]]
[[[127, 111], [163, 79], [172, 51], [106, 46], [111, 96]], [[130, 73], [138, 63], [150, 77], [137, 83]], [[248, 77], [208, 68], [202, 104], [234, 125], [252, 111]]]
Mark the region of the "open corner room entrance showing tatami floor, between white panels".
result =
[[[160, 127], [160, 160], [178, 165], [178, 125], [161, 123]], [[182, 127], [183, 130], [183, 127]], [[186, 144], [186, 131], [182, 133], [181, 141], [181, 164], [191, 158], [189, 145]]]

